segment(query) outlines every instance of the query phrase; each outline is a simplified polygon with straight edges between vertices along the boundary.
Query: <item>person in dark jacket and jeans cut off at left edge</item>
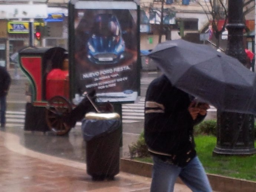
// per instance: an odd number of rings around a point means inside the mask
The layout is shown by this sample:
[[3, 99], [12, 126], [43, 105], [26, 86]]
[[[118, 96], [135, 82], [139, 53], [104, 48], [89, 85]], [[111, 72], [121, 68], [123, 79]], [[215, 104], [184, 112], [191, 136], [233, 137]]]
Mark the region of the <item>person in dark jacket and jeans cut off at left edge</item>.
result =
[[5, 127], [6, 122], [6, 96], [9, 91], [11, 77], [5, 67], [0, 66], [0, 123], [1, 128]]

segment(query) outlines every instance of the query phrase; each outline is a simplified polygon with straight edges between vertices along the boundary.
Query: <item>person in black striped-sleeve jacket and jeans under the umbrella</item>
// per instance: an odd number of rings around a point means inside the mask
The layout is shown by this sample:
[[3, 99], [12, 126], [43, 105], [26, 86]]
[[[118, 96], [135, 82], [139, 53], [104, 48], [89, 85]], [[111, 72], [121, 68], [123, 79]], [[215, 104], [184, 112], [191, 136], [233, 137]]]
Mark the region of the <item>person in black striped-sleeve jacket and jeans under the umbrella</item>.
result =
[[211, 192], [196, 155], [193, 126], [209, 105], [171, 85], [165, 75], [153, 80], [145, 98], [145, 141], [153, 156], [151, 192], [173, 192], [178, 176], [193, 192]]

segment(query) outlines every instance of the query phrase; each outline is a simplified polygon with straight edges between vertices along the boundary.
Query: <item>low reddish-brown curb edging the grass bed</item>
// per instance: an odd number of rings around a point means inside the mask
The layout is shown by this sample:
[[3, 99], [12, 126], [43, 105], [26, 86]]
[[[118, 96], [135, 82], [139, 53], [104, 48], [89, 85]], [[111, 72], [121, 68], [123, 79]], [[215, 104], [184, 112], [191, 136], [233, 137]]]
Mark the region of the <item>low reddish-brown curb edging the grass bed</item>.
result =
[[[120, 159], [120, 171], [151, 178], [152, 163]], [[211, 187], [220, 192], [256, 192], [256, 182], [207, 174]], [[177, 183], [184, 184], [180, 178]]]

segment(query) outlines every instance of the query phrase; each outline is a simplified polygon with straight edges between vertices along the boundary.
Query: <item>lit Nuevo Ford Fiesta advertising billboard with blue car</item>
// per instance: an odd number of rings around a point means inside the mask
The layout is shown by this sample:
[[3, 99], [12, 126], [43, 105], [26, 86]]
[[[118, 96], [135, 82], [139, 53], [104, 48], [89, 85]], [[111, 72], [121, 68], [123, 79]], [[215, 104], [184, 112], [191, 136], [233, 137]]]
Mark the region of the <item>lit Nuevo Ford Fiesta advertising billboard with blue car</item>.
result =
[[98, 102], [136, 100], [140, 89], [137, 4], [76, 1], [70, 9], [74, 93], [94, 89]]

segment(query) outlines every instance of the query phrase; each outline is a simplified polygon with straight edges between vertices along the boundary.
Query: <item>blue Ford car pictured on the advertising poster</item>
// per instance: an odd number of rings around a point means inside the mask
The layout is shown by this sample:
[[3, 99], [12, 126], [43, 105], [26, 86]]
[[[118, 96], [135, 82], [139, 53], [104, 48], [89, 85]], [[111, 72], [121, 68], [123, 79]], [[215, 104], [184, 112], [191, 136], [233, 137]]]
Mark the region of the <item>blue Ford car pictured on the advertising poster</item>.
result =
[[125, 42], [113, 14], [97, 14], [89, 36], [87, 57], [96, 64], [115, 64], [124, 58]]

